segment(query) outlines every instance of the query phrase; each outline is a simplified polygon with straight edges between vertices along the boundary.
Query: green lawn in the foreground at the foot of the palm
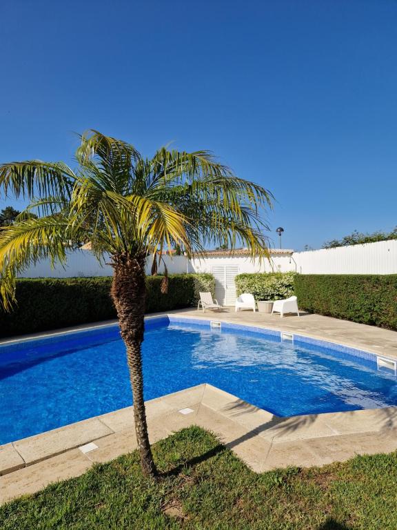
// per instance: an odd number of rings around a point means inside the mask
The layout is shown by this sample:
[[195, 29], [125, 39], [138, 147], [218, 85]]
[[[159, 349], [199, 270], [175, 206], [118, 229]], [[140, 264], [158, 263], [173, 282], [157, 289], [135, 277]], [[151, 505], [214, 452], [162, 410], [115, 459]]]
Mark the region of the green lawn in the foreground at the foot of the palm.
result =
[[397, 528], [397, 452], [257, 475], [213, 435], [190, 427], [155, 444], [154, 456], [158, 482], [142, 477], [134, 452], [3, 505], [0, 528]]

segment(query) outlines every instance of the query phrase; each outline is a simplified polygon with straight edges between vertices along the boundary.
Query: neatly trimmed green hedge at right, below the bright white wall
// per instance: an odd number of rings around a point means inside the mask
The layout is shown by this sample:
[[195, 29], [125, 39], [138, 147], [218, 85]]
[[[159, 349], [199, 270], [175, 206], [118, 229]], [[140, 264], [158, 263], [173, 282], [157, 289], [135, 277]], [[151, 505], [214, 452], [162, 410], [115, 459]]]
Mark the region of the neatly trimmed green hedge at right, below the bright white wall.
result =
[[299, 308], [397, 330], [397, 275], [296, 275]]

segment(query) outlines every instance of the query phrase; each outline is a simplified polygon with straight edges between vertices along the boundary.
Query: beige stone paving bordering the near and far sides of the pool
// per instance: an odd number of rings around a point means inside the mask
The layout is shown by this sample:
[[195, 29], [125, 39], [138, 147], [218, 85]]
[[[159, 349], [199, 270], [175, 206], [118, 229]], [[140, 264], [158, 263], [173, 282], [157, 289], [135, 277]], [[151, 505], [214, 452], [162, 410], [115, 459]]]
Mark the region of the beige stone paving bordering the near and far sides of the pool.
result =
[[[318, 337], [397, 358], [397, 333], [353, 322], [303, 315], [174, 311]], [[397, 449], [397, 407], [278, 418], [210, 384], [147, 402], [151, 442], [193, 424], [218, 435], [254, 471], [318, 466], [356, 454]], [[94, 446], [86, 446], [94, 443]], [[90, 450], [91, 449], [91, 450]], [[132, 407], [0, 446], [0, 502], [81, 475], [136, 449]]]

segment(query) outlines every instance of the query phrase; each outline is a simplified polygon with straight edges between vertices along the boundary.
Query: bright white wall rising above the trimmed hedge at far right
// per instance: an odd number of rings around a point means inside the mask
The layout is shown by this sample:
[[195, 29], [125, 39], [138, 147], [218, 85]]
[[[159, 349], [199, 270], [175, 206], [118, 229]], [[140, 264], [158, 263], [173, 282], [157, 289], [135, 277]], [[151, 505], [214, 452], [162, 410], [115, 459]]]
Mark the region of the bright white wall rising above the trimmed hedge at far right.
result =
[[397, 240], [323, 248], [293, 255], [303, 274], [397, 274]]

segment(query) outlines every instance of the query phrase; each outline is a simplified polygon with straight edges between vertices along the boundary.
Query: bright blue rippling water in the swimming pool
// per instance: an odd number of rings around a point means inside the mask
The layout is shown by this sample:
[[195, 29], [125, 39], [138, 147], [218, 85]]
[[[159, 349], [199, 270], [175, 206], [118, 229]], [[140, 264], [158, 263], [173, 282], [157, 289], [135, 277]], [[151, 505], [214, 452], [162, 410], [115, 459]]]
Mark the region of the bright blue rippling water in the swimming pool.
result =
[[[303, 339], [302, 339], [303, 340]], [[145, 399], [204, 382], [279, 416], [397, 404], [396, 377], [375, 357], [249, 328], [150, 320]], [[0, 444], [132, 404], [116, 326], [0, 347]]]

